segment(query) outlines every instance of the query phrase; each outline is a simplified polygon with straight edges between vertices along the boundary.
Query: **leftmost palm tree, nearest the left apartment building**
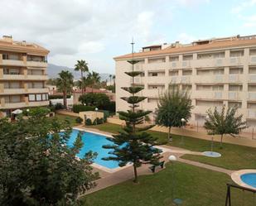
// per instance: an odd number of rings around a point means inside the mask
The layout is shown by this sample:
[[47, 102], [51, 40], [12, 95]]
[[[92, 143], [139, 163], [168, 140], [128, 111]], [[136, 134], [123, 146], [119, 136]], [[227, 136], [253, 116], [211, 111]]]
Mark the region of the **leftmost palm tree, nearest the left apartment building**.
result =
[[67, 108], [66, 94], [72, 91], [74, 76], [70, 71], [64, 70], [59, 73], [59, 76], [60, 77], [56, 79], [56, 86], [57, 89], [63, 93], [63, 105], [64, 108]]

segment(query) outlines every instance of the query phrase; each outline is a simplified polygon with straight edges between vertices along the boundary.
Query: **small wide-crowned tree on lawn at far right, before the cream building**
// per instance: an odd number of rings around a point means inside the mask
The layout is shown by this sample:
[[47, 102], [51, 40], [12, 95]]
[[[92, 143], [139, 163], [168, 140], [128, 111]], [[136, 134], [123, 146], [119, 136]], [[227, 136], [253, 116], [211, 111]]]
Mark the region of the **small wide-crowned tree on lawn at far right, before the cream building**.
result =
[[220, 147], [222, 147], [222, 141], [224, 135], [238, 135], [243, 129], [245, 129], [246, 122], [243, 121], [243, 115], [236, 115], [237, 107], [228, 108], [225, 112], [225, 105], [219, 112], [215, 108], [214, 112], [210, 109], [206, 112], [208, 117], [205, 119], [205, 129], [210, 135], [220, 135]]

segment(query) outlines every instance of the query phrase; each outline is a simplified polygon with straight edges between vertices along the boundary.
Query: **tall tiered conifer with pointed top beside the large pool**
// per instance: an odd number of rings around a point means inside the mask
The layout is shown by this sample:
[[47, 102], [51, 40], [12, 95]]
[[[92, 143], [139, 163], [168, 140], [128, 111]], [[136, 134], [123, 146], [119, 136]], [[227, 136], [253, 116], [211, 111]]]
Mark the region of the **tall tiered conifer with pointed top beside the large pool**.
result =
[[[138, 60], [128, 60], [128, 63], [134, 66], [138, 63]], [[159, 164], [160, 151], [154, 147], [156, 145], [156, 138], [145, 132], [149, 127], [136, 127], [142, 124], [143, 119], [150, 111], [136, 111], [138, 103], [145, 99], [140, 97], [136, 93], [140, 92], [143, 88], [135, 86], [134, 77], [141, 74], [138, 71], [126, 72], [129, 77], [132, 77], [133, 84], [130, 87], [122, 88], [124, 91], [131, 93], [130, 97], [122, 98], [124, 101], [130, 104], [130, 110], [127, 112], [118, 112], [120, 119], [126, 122], [126, 126], [123, 130], [118, 132], [118, 135], [114, 135], [113, 138], [109, 138], [113, 145], [104, 146], [104, 148], [112, 149], [109, 151], [109, 157], [104, 160], [117, 160], [119, 166], [133, 164], [134, 170], [134, 183], [138, 183], [137, 168], [142, 164], [152, 163]]]

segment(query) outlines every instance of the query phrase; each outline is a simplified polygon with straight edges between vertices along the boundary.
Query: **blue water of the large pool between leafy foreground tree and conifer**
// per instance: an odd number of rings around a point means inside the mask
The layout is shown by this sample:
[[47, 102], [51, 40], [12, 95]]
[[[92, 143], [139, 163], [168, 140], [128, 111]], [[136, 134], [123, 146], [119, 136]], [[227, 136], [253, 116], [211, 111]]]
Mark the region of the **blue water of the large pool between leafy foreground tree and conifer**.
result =
[[[75, 138], [77, 137], [80, 131], [73, 129], [70, 134], [70, 140], [68, 141], [68, 146], [73, 146]], [[102, 146], [113, 144], [112, 141], [107, 140], [107, 138], [103, 135], [91, 133], [91, 132], [82, 132], [82, 141], [84, 142], [84, 146], [80, 150], [80, 153], [77, 155], [80, 158], [85, 156], [85, 153], [88, 151], [97, 152], [98, 156], [94, 159], [94, 163], [98, 165], [102, 165], [109, 169], [114, 169], [118, 167], [118, 161], [114, 160], [102, 160], [103, 157], [109, 156], [109, 149], [104, 149]]]

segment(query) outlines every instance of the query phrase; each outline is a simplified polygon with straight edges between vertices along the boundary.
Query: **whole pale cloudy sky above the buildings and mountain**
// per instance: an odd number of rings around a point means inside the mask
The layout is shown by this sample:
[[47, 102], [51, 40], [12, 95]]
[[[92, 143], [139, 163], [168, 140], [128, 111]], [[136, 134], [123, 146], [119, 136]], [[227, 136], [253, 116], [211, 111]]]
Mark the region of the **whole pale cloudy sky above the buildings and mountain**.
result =
[[48, 62], [114, 74], [142, 46], [256, 34], [256, 0], [0, 0], [0, 36], [50, 50]]

